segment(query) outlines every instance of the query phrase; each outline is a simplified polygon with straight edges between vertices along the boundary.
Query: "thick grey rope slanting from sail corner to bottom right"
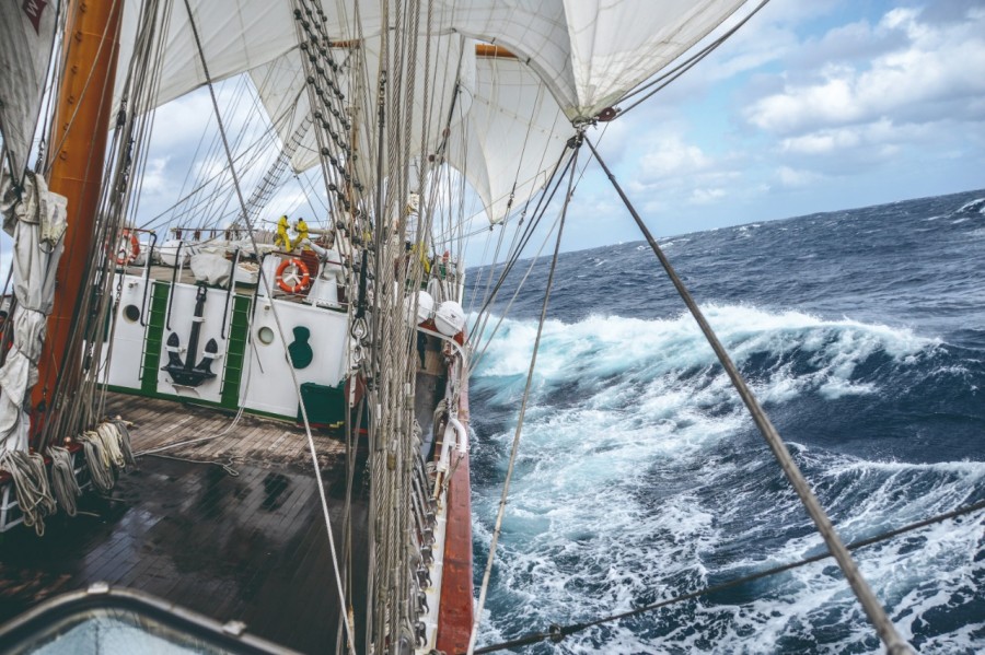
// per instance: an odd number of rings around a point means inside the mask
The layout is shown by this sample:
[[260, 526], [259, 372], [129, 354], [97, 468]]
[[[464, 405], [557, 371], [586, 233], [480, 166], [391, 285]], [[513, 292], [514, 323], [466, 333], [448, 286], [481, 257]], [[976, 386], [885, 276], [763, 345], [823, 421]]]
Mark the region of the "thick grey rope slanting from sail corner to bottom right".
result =
[[640, 232], [642, 232], [644, 236], [646, 237], [647, 243], [653, 250], [653, 254], [657, 255], [657, 258], [660, 260], [660, 264], [667, 272], [668, 278], [670, 278], [674, 288], [677, 290], [677, 293], [681, 295], [684, 304], [687, 305], [688, 311], [691, 312], [692, 316], [694, 316], [694, 319], [697, 321], [698, 327], [705, 335], [705, 338], [711, 346], [715, 354], [718, 356], [718, 361], [721, 363], [722, 367], [728, 374], [729, 379], [731, 379], [732, 386], [735, 387], [735, 390], [739, 393], [739, 396], [745, 403], [746, 409], [749, 409], [750, 416], [756, 423], [756, 426], [760, 429], [763, 437], [766, 440], [769, 449], [773, 452], [774, 457], [776, 458], [780, 468], [784, 470], [784, 473], [787, 476], [787, 479], [790, 481], [790, 484], [793, 487], [797, 495], [800, 498], [804, 510], [807, 510], [811, 519], [814, 522], [818, 531], [824, 538], [824, 542], [827, 546], [828, 550], [834, 553], [834, 558], [835, 560], [837, 560], [838, 566], [842, 569], [845, 578], [851, 586], [851, 590], [855, 593], [862, 608], [866, 610], [866, 615], [869, 617], [869, 621], [879, 633], [879, 638], [885, 645], [887, 652], [890, 653], [890, 655], [912, 653], [913, 651], [911, 650], [909, 645], [903, 640], [903, 638], [900, 636], [899, 632], [896, 632], [896, 628], [887, 616], [885, 609], [876, 597], [872, 588], [862, 577], [861, 573], [858, 570], [858, 566], [855, 563], [855, 560], [851, 559], [851, 555], [848, 553], [848, 550], [842, 542], [841, 537], [835, 531], [834, 526], [831, 523], [831, 518], [828, 518], [824, 508], [821, 506], [821, 503], [814, 495], [814, 492], [811, 491], [810, 484], [808, 484], [808, 481], [804, 479], [803, 473], [800, 472], [797, 463], [795, 463], [793, 458], [790, 456], [790, 452], [787, 449], [787, 445], [784, 443], [783, 437], [780, 437], [776, 428], [769, 421], [769, 417], [767, 417], [766, 412], [763, 411], [763, 408], [762, 406], [760, 406], [758, 400], [753, 395], [752, 389], [749, 388], [749, 385], [745, 383], [745, 379], [742, 377], [739, 369], [732, 362], [732, 359], [729, 356], [725, 347], [721, 344], [715, 331], [711, 329], [711, 326], [708, 324], [705, 315], [702, 313], [697, 303], [694, 301], [694, 297], [692, 297], [691, 292], [684, 285], [684, 282], [681, 280], [681, 278], [677, 277], [677, 273], [674, 270], [673, 266], [671, 266], [670, 260], [663, 254], [663, 250], [660, 249], [660, 246], [657, 244], [653, 235], [650, 234], [650, 231], [647, 227], [646, 223], [644, 223], [639, 213], [637, 213], [636, 208], [633, 207], [629, 198], [626, 196], [625, 191], [623, 191], [623, 188], [619, 186], [618, 182], [616, 182], [615, 175], [613, 175], [612, 171], [610, 171], [609, 166], [602, 160], [599, 151], [595, 150], [595, 147], [592, 145], [592, 142], [588, 138], [586, 138], [584, 141], [591, 149], [595, 161], [598, 161], [602, 166], [602, 169], [605, 172], [605, 175], [612, 183], [613, 188], [623, 200], [623, 203], [626, 206], [626, 209], [629, 211], [633, 220], [636, 221], [636, 224], [639, 226]]

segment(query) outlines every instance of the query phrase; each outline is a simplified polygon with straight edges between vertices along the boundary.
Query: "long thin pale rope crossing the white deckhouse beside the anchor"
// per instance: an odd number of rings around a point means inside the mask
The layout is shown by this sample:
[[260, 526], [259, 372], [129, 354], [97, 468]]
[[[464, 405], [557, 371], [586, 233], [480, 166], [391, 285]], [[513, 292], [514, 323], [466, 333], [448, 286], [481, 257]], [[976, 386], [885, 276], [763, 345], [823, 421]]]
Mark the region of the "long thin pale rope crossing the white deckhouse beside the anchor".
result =
[[[257, 248], [256, 239], [255, 239], [255, 236], [253, 233], [253, 225], [250, 224], [250, 217], [247, 214], [246, 200], [243, 197], [243, 191], [240, 187], [239, 176], [236, 175], [235, 166], [233, 166], [232, 151], [230, 149], [229, 140], [225, 137], [225, 128], [223, 127], [222, 116], [219, 112], [219, 101], [216, 97], [216, 90], [212, 85], [212, 78], [209, 74], [208, 65], [206, 63], [205, 50], [202, 49], [201, 39], [198, 35], [198, 26], [195, 23], [195, 15], [192, 12], [192, 4], [190, 4], [189, 0], [184, 0], [184, 3], [185, 3], [185, 10], [188, 12], [188, 24], [192, 27], [192, 34], [195, 37], [195, 46], [198, 49], [198, 58], [199, 58], [199, 61], [201, 62], [202, 72], [205, 73], [206, 84], [209, 87], [209, 96], [212, 100], [212, 108], [216, 112], [216, 121], [219, 124], [219, 133], [222, 138], [222, 145], [223, 145], [223, 149], [225, 150], [225, 156], [229, 162], [230, 175], [232, 176], [232, 178], [234, 180], [236, 197], [240, 201], [240, 207], [243, 211], [243, 220], [246, 222], [246, 229], [250, 234], [250, 239], [252, 242], [254, 253], [256, 253], [256, 252], [258, 252], [258, 248]], [[270, 280], [268, 280], [267, 277], [263, 274], [263, 271], [260, 271], [260, 280], [263, 281], [264, 285], [266, 286], [267, 296], [273, 297], [273, 291], [270, 289]], [[277, 325], [277, 331], [280, 334], [281, 340], [283, 342], [287, 342], [287, 339], [285, 339], [285, 330], [281, 325], [280, 317], [277, 315], [276, 307], [274, 307], [273, 304], [271, 304], [271, 308], [274, 308], [273, 315], [274, 315], [274, 320]], [[298, 375], [294, 372], [293, 366], [290, 366], [289, 370], [291, 372], [291, 382], [293, 383], [294, 389], [298, 393], [298, 396], [300, 398], [301, 393], [300, 393], [300, 384], [298, 382]], [[321, 502], [322, 513], [325, 518], [325, 529], [328, 533], [328, 546], [332, 551], [332, 564], [334, 568], [333, 570], [335, 573], [335, 583], [336, 583], [335, 586], [336, 586], [336, 590], [338, 592], [339, 603], [341, 604], [343, 607], [345, 607], [346, 597], [345, 597], [345, 593], [343, 592], [341, 577], [339, 576], [338, 555], [336, 554], [336, 549], [335, 549], [335, 537], [332, 534], [332, 518], [328, 514], [328, 502], [325, 498], [326, 496], [325, 483], [322, 480], [322, 471], [321, 471], [321, 467], [318, 466], [317, 449], [315, 447], [314, 436], [311, 433], [311, 424], [308, 420], [308, 410], [304, 407], [303, 401], [299, 403], [299, 408], [301, 410], [301, 417], [304, 420], [304, 432], [308, 436], [309, 451], [311, 453], [312, 464], [314, 466], [315, 481], [317, 482], [317, 487], [318, 487], [318, 501]], [[349, 638], [349, 651], [352, 655], [356, 655], [356, 635], [352, 633], [351, 625], [349, 624], [349, 622], [346, 622], [346, 631], [347, 631], [347, 634]]]

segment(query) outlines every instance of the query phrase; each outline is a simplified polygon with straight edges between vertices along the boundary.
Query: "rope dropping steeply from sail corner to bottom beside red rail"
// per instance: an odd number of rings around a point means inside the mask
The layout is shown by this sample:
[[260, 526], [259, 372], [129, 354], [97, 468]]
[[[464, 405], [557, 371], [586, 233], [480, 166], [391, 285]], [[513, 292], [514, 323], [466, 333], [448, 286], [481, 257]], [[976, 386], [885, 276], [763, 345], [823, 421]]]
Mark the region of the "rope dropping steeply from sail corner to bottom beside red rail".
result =
[[510, 449], [510, 461], [507, 466], [506, 479], [502, 482], [502, 495], [499, 499], [499, 510], [496, 514], [496, 525], [493, 528], [493, 540], [489, 543], [489, 555], [486, 560], [486, 570], [483, 573], [483, 584], [479, 588], [479, 597], [478, 603], [475, 607], [475, 621], [472, 624], [472, 634], [468, 638], [468, 655], [472, 655], [475, 652], [475, 641], [478, 639], [478, 629], [479, 623], [482, 622], [483, 617], [483, 608], [486, 605], [486, 594], [489, 590], [489, 578], [493, 575], [493, 562], [496, 559], [496, 547], [499, 543], [499, 535], [502, 531], [502, 519], [506, 515], [506, 505], [507, 499], [510, 493], [510, 480], [513, 477], [513, 467], [517, 464], [517, 454], [520, 452], [520, 435], [523, 431], [523, 419], [526, 414], [526, 403], [530, 399], [530, 389], [533, 386], [533, 374], [537, 364], [537, 351], [541, 348], [541, 337], [544, 332], [544, 323], [547, 320], [547, 305], [551, 301], [551, 288], [554, 284], [554, 272], [557, 267], [557, 258], [560, 254], [560, 244], [561, 236], [565, 232], [565, 218], [568, 213], [568, 207], [571, 202], [571, 190], [575, 186], [575, 172], [577, 169], [578, 162], [578, 151], [581, 145], [581, 137], [582, 131], [579, 130], [578, 136], [576, 137], [576, 141], [571, 143], [571, 148], [573, 148], [575, 153], [571, 155], [569, 163], [571, 164], [568, 167], [568, 191], [565, 196], [564, 206], [560, 211], [560, 222], [557, 227], [557, 242], [555, 242], [554, 246], [554, 257], [551, 260], [551, 271], [547, 273], [547, 286], [544, 290], [544, 303], [541, 307], [541, 319], [537, 323], [537, 336], [534, 339], [533, 354], [530, 361], [530, 369], [526, 373], [526, 386], [523, 389], [523, 399], [520, 401], [520, 414], [517, 418], [517, 431], [513, 433], [513, 444]]

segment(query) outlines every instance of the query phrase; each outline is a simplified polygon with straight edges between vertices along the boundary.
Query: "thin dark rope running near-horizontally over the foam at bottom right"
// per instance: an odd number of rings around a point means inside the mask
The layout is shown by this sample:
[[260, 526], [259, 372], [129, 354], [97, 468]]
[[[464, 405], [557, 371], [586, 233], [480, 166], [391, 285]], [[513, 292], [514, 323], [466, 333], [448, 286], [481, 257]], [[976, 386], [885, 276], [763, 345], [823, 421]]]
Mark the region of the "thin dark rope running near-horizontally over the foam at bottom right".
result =
[[[958, 510], [953, 510], [951, 512], [947, 512], [945, 514], [938, 514], [937, 516], [931, 516], [930, 518], [925, 518], [923, 521], [917, 521], [915, 523], [911, 523], [901, 528], [896, 528], [894, 530], [889, 530], [887, 533], [882, 533], [874, 537], [869, 537], [867, 539], [859, 539], [858, 541], [853, 541], [848, 543], [846, 548], [848, 550], [858, 550], [860, 548], [866, 548], [868, 546], [873, 546], [876, 543], [881, 543], [883, 541], [888, 541], [894, 537], [899, 537], [900, 535], [904, 535], [906, 533], [912, 533], [914, 530], [918, 530], [920, 528], [928, 527], [930, 525], [937, 523], [943, 523], [945, 521], [951, 518], [960, 518], [961, 516], [965, 516], [967, 514], [974, 514], [981, 510], [985, 510], [985, 500], [978, 501], [971, 505], [965, 505], [964, 507], [959, 507]], [[770, 577], [777, 575], [779, 573], [786, 573], [787, 571], [792, 571], [795, 569], [801, 569], [809, 564], [814, 564], [816, 562], [821, 562], [828, 558], [833, 557], [830, 551], [825, 551], [822, 553], [818, 553], [815, 555], [811, 555], [809, 558], [803, 558], [802, 560], [797, 560], [796, 562], [789, 562], [787, 564], [780, 564], [779, 566], [772, 566], [769, 569], [765, 569], [763, 571], [758, 571], [756, 573], [751, 573], [750, 575], [743, 575], [742, 577], [737, 577], [734, 580], [730, 580], [728, 582], [723, 582], [721, 584], [712, 585], [710, 587], [704, 587], [696, 592], [691, 592], [688, 594], [682, 594], [680, 596], [673, 596], [671, 598], [665, 598], [658, 603], [652, 603], [650, 605], [645, 605], [642, 607], [637, 607], [635, 609], [630, 609], [624, 612], [619, 612], [616, 615], [610, 615], [607, 617], [602, 617], [599, 619], [592, 619], [591, 621], [583, 621], [580, 623], [570, 623], [568, 625], [558, 625], [557, 623], [553, 623], [546, 632], [532, 632], [530, 634], [520, 636], [514, 640], [510, 640], [508, 642], [501, 642], [498, 644], [494, 644], [490, 646], [483, 646], [482, 648], [476, 648], [475, 653], [495, 653], [497, 651], [503, 651], [506, 648], [515, 648], [518, 646], [526, 646], [530, 644], [535, 644], [545, 640], [551, 640], [555, 643], [561, 641], [565, 636], [570, 634], [575, 634], [576, 632], [581, 632], [582, 630], [587, 630], [588, 628], [594, 628], [595, 625], [602, 625], [604, 623], [612, 623], [613, 621], [619, 621], [622, 619], [628, 619], [631, 617], [638, 617], [640, 615], [649, 613], [651, 611], [656, 611], [658, 609], [662, 609], [664, 607], [669, 607], [671, 605], [677, 605], [680, 603], [684, 603], [686, 600], [694, 600], [695, 598], [699, 598], [702, 596], [709, 596], [711, 594], [718, 594], [720, 592], [726, 592], [728, 589], [732, 589], [739, 586], [742, 586], [750, 582], [755, 582], [757, 580], [763, 580], [764, 577]]]

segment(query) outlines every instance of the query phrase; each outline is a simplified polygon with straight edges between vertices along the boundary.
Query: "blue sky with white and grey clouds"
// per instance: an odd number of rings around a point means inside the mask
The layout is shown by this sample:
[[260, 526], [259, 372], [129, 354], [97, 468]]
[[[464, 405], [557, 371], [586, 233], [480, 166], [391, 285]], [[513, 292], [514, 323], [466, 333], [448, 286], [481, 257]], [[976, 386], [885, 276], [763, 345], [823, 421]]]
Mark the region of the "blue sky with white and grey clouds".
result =
[[[236, 86], [220, 93], [233, 97]], [[252, 102], [244, 94], [235, 112], [248, 114]], [[141, 223], [196, 174], [224, 165], [216, 143], [202, 141], [213, 129], [207, 93], [165, 105], [155, 125]], [[590, 138], [663, 236], [985, 188], [985, 1], [773, 0]], [[310, 186], [285, 190], [275, 213], [323, 214], [316, 196]], [[471, 264], [488, 261], [487, 234], [471, 241]], [[563, 249], [639, 238], [588, 165]], [[9, 253], [4, 236], [4, 269]]]

